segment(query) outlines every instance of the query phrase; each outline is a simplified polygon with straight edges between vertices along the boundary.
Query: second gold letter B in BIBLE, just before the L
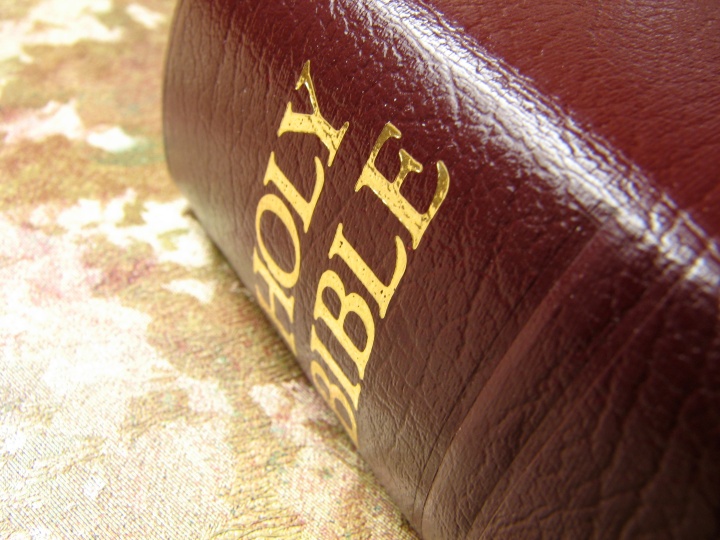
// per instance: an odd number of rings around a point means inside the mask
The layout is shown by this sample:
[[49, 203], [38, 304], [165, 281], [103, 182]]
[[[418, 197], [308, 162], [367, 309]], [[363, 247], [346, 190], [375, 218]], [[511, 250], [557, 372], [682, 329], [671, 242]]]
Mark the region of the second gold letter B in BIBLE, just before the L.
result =
[[[322, 295], [325, 289], [332, 289], [340, 298], [340, 314], [337, 319], [323, 302]], [[352, 338], [345, 332], [345, 319], [351, 312], [355, 313], [365, 326], [367, 337], [365, 346], [362, 348], [355, 345]], [[352, 359], [357, 367], [358, 376], [362, 379], [365, 376], [365, 365], [370, 358], [370, 351], [372, 351], [373, 342], [375, 341], [375, 322], [370, 313], [370, 308], [362, 296], [357, 293], [346, 294], [340, 276], [332, 270], [325, 270], [318, 283], [313, 317], [322, 319], [327, 324], [343, 349], [345, 349], [345, 352]]]

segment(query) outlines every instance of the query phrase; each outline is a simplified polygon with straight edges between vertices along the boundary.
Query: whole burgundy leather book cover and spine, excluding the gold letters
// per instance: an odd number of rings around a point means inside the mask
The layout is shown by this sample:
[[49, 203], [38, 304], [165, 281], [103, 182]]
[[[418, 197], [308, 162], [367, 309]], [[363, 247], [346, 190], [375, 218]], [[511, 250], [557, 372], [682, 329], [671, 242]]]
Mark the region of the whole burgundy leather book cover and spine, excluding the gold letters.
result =
[[[349, 123], [332, 166], [319, 137], [278, 136], [289, 102], [312, 110], [307, 60], [322, 116]], [[173, 177], [249, 289], [269, 298], [259, 234], [297, 263], [277, 324], [324, 394], [311, 328], [361, 385], [359, 451], [424, 537], [720, 535], [717, 3], [181, 0], [164, 99]], [[388, 122], [377, 169], [423, 164], [418, 212], [449, 174], [417, 247], [355, 189]], [[299, 251], [281, 218], [256, 229], [262, 197], [287, 205], [271, 152], [304, 199], [324, 171], [308, 230], [288, 214]], [[406, 254], [384, 318], [329, 257], [339, 223], [385, 284]], [[370, 308], [362, 380], [314, 314], [327, 269]]]

